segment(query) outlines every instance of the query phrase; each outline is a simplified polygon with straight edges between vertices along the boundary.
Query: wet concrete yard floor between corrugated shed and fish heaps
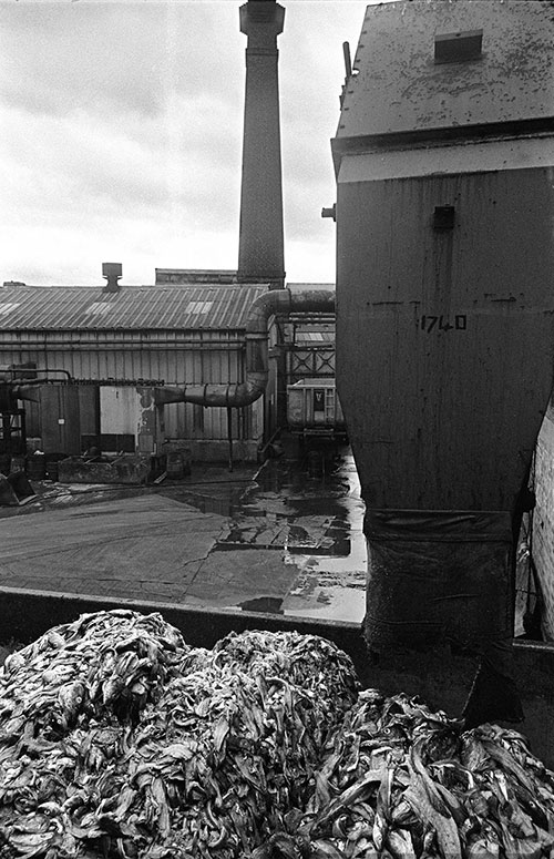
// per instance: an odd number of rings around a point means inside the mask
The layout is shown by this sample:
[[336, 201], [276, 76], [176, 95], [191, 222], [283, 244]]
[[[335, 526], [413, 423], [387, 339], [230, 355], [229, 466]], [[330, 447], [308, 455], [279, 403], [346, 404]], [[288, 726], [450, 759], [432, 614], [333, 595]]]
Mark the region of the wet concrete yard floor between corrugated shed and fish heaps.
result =
[[348, 448], [160, 487], [33, 483], [0, 509], [0, 586], [359, 624], [363, 504]]

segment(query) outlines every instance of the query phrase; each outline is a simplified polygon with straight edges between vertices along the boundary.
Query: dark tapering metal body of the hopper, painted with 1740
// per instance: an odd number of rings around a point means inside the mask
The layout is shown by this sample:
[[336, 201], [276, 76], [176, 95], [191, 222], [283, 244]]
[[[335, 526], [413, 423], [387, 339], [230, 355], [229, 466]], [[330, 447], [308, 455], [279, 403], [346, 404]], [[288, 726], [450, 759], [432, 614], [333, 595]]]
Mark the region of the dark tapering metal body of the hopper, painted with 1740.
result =
[[551, 176], [339, 183], [337, 378], [369, 507], [512, 510], [552, 386]]

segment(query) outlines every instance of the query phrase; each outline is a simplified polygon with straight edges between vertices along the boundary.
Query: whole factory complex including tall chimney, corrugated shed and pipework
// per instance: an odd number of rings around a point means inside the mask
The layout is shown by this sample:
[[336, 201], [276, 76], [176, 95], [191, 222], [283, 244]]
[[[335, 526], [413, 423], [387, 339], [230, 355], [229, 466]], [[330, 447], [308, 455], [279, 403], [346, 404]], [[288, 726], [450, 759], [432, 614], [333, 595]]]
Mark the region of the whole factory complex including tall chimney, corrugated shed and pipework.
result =
[[[157, 268], [154, 286], [122, 286], [121, 265], [105, 264], [104, 287], [4, 283], [0, 364], [16, 368], [6, 380], [22, 365], [37, 376], [17, 409], [4, 402], [4, 447], [17, 436], [17, 411], [27, 438], [45, 452], [93, 446], [158, 453], [170, 442], [186, 443], [194, 460], [214, 460], [233, 443], [235, 457], [255, 460], [286, 422], [287, 385], [307, 374], [332, 376], [332, 293], [326, 287], [322, 299], [308, 300], [284, 288], [284, 19], [276, 2], [240, 8], [247, 45], [237, 270]], [[268, 292], [283, 300], [256, 309]]]

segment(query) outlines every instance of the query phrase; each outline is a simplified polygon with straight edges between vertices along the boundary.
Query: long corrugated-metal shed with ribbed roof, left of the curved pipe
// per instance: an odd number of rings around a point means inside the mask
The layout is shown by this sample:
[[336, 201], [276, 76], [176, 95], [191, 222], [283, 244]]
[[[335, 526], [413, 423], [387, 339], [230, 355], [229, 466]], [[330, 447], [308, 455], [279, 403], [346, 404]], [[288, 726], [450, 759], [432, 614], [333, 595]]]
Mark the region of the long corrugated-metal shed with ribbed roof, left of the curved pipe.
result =
[[[148, 451], [144, 433], [140, 438], [136, 388], [239, 381], [245, 320], [266, 290], [213, 282], [116, 290], [4, 285], [0, 364], [31, 365], [49, 382], [39, 386], [38, 401], [24, 403], [28, 439], [70, 454], [92, 444], [103, 452], [157, 452], [160, 440], [186, 440], [194, 459], [217, 459], [228, 436], [225, 408], [165, 406]], [[69, 377], [76, 384], [60, 384]], [[260, 399], [233, 409], [232, 433], [243, 459], [256, 459], [264, 406]]]

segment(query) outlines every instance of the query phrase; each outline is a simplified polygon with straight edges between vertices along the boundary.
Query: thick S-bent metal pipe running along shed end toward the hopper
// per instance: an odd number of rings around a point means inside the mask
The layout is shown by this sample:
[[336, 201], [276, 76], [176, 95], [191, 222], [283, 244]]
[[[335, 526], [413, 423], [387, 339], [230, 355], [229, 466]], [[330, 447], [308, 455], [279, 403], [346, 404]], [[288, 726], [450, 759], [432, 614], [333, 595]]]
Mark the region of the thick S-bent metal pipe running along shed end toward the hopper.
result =
[[165, 386], [154, 389], [156, 406], [167, 402], [196, 402], [207, 407], [249, 406], [264, 393], [269, 375], [268, 323], [280, 314], [335, 313], [335, 293], [309, 289], [293, 294], [290, 289], [271, 289], [252, 305], [246, 320], [246, 379], [243, 382]]

